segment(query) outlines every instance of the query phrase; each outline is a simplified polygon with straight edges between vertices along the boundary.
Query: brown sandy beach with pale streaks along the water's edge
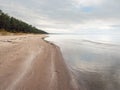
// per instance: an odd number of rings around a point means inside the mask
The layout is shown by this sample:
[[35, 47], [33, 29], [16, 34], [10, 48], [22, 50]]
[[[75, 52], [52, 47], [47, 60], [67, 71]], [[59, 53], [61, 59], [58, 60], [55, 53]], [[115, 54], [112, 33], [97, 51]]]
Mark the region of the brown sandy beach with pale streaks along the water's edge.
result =
[[45, 35], [0, 36], [0, 90], [79, 90]]

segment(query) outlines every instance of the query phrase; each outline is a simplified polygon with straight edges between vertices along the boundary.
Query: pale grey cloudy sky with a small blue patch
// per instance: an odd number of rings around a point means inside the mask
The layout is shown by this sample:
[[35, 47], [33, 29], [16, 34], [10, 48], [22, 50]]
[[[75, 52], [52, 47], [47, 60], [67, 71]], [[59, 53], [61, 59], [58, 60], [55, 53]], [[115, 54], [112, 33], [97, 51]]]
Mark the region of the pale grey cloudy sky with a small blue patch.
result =
[[120, 0], [0, 0], [0, 9], [54, 33], [120, 29]]

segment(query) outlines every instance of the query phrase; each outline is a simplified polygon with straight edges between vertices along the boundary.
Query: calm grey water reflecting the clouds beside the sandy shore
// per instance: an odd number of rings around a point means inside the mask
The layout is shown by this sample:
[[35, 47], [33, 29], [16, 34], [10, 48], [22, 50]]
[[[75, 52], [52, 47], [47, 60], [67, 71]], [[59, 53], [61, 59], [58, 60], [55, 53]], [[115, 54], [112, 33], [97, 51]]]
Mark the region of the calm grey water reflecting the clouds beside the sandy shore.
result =
[[49, 35], [81, 90], [120, 90], [120, 35]]

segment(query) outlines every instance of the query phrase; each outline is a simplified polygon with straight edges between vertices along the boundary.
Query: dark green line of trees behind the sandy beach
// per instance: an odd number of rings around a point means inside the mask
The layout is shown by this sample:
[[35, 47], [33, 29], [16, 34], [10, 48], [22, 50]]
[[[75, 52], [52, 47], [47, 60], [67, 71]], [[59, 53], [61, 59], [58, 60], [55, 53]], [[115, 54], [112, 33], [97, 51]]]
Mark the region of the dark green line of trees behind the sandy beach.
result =
[[39, 30], [32, 25], [29, 25], [14, 17], [10, 17], [6, 13], [0, 10], [0, 29], [5, 29], [8, 32], [13, 33], [41, 33], [46, 34], [45, 31]]

